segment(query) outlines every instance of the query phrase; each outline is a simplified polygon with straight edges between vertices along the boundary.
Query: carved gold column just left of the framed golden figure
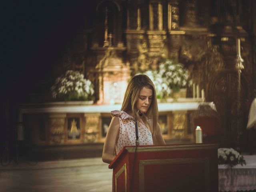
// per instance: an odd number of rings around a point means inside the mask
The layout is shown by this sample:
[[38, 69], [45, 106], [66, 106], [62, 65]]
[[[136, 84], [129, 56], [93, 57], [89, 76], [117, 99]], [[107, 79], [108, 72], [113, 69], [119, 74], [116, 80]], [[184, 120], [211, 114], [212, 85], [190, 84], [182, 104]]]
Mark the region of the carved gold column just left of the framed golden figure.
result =
[[64, 144], [66, 113], [50, 114], [50, 144]]

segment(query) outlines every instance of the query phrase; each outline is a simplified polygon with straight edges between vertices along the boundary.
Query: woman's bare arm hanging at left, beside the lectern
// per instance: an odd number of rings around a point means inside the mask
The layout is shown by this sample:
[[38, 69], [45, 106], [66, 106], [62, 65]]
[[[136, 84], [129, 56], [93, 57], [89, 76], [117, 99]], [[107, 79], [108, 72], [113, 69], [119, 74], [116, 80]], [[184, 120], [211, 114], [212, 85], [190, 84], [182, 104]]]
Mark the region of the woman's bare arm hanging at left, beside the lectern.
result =
[[105, 163], [110, 164], [115, 158], [114, 149], [116, 146], [116, 140], [118, 139], [119, 128], [119, 118], [117, 116], [114, 116], [110, 122], [103, 146], [102, 161]]

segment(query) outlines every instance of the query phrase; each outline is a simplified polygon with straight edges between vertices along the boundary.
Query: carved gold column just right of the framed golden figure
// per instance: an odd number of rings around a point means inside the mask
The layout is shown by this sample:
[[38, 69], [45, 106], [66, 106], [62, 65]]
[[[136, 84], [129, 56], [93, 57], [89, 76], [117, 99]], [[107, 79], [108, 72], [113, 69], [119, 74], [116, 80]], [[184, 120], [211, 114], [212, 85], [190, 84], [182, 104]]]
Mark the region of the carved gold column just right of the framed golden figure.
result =
[[100, 113], [85, 113], [84, 142], [98, 142], [100, 136]]

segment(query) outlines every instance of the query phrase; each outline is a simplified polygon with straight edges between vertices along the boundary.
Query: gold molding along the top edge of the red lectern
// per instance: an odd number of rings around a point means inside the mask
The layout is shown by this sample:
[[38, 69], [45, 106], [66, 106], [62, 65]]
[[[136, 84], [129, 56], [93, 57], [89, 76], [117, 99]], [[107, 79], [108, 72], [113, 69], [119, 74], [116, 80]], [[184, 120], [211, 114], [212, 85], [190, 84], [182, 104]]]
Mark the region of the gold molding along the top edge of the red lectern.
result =
[[[138, 147], [136, 152], [164, 152], [164, 151], [176, 151], [176, 150], [202, 150], [202, 149], [218, 149], [216, 144], [190, 144], [179, 146], [150, 146], [150, 147]], [[126, 148], [128, 153], [134, 153], [135, 147]]]

